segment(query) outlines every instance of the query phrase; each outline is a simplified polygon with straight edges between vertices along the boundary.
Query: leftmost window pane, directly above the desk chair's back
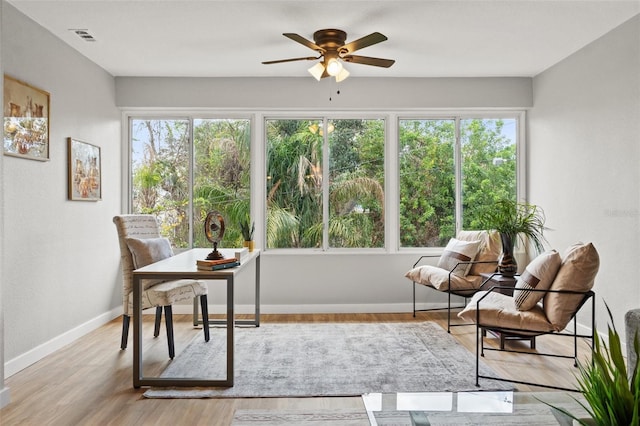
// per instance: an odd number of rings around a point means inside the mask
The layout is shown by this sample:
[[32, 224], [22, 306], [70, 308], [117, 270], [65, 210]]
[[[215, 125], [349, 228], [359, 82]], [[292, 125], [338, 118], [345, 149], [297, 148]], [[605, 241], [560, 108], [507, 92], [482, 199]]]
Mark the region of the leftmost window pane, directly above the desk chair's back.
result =
[[189, 122], [132, 120], [133, 213], [155, 215], [174, 247], [189, 243]]

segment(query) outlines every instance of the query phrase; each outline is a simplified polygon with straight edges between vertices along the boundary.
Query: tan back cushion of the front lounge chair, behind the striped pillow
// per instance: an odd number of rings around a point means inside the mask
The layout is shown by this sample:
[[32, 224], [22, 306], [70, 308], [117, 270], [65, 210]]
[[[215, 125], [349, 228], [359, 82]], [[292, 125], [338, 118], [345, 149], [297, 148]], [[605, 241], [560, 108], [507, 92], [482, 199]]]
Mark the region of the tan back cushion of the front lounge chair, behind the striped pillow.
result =
[[[593, 244], [576, 243], [566, 250], [550, 289], [587, 292], [593, 287], [599, 267], [600, 257]], [[554, 327], [562, 330], [582, 299], [579, 294], [548, 293], [543, 299], [544, 312]]]

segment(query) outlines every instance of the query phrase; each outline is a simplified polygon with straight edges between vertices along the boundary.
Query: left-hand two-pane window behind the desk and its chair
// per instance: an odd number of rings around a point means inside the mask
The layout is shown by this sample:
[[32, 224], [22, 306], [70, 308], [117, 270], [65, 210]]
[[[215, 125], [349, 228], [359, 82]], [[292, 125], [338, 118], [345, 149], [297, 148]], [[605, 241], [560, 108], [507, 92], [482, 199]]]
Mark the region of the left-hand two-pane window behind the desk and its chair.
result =
[[202, 224], [219, 211], [231, 225], [221, 246], [240, 247], [250, 130], [245, 119], [131, 119], [132, 212], [156, 215], [162, 235], [182, 248], [208, 247]]

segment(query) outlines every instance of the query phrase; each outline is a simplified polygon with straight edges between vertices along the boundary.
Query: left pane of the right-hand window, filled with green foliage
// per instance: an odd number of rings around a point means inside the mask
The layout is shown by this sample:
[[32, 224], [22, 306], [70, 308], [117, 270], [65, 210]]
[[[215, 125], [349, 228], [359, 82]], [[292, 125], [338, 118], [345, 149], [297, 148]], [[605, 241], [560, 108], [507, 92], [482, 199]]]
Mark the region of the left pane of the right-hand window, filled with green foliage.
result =
[[400, 120], [400, 246], [442, 247], [455, 235], [454, 120]]

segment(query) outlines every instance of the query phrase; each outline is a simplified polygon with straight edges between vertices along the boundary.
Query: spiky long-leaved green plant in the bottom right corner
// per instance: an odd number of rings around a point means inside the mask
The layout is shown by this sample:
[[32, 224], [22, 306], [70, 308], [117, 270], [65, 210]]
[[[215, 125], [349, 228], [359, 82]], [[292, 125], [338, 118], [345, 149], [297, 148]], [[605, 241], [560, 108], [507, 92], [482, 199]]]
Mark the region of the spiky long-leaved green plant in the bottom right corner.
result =
[[[589, 413], [591, 419], [580, 419], [564, 408], [545, 402], [554, 410], [569, 416], [581, 425], [638, 425], [640, 424], [640, 363], [628, 374], [622, 355], [622, 345], [609, 306], [606, 305], [611, 324], [609, 347], [600, 341], [598, 333], [593, 339], [593, 359], [578, 362], [578, 388], [588, 406], [576, 401]], [[634, 350], [640, 354], [640, 336], [636, 333]], [[543, 401], [544, 402], [544, 401]], [[575, 423], [574, 422], [574, 423]]]

